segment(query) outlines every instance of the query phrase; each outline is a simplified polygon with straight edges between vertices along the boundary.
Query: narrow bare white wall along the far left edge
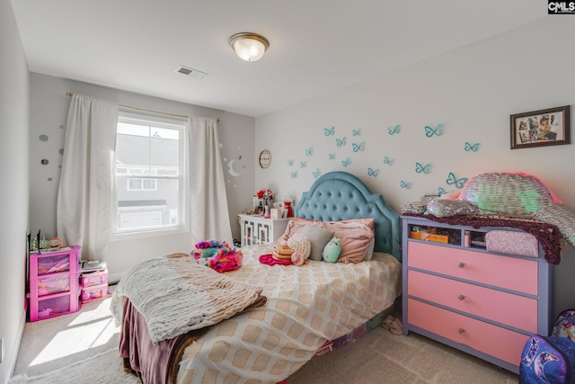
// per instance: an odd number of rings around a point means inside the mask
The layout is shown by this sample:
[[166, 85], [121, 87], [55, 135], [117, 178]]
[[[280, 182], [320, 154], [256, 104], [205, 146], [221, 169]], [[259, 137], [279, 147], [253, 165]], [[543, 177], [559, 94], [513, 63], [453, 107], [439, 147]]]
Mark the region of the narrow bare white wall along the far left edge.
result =
[[0, 382], [12, 374], [26, 320], [24, 311], [28, 230], [28, 113], [30, 85], [12, 4], [0, 0]]

